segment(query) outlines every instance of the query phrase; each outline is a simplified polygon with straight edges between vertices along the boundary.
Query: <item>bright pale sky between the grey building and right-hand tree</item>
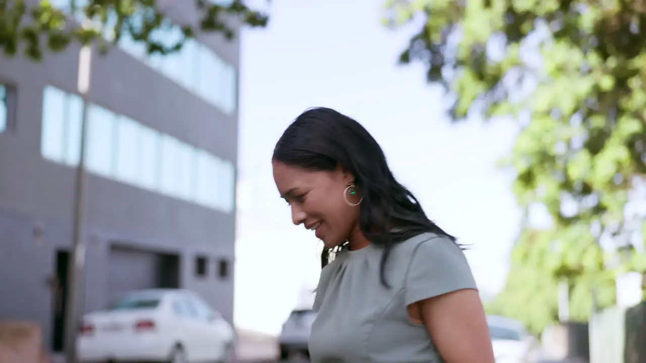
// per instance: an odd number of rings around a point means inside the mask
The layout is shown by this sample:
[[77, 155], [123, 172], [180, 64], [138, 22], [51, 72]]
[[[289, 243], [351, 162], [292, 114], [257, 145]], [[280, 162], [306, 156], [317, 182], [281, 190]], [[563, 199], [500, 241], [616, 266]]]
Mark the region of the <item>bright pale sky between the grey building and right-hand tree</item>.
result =
[[396, 60], [406, 32], [380, 25], [374, 0], [273, 0], [271, 23], [242, 37], [235, 323], [277, 334], [291, 309], [311, 306], [321, 244], [291, 223], [271, 174], [271, 152], [303, 110], [357, 119], [430, 218], [463, 244], [486, 294], [504, 284], [519, 209], [511, 174], [495, 167], [516, 127], [452, 125], [423, 69]]

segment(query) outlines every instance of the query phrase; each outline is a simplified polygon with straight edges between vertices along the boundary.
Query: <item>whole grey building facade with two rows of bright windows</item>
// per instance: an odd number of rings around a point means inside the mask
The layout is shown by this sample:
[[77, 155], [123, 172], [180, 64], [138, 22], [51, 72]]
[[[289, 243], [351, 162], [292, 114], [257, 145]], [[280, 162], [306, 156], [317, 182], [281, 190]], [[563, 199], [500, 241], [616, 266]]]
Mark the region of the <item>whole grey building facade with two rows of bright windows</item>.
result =
[[[167, 10], [198, 19], [185, 4]], [[78, 46], [41, 63], [0, 59], [0, 320], [39, 322], [46, 346], [63, 347], [87, 107], [85, 311], [183, 287], [232, 322], [238, 39], [203, 34], [163, 57], [121, 39], [94, 52], [87, 105]]]

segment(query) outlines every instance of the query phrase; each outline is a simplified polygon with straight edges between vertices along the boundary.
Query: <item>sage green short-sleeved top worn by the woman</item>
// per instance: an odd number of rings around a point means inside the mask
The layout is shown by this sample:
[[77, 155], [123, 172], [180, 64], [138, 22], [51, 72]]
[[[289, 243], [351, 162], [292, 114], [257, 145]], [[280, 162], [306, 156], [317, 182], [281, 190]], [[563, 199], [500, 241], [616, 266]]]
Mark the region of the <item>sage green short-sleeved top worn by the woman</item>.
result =
[[475, 289], [462, 249], [432, 233], [397, 244], [380, 282], [382, 249], [344, 250], [321, 271], [309, 338], [312, 363], [440, 363], [423, 324], [406, 306], [461, 289]]

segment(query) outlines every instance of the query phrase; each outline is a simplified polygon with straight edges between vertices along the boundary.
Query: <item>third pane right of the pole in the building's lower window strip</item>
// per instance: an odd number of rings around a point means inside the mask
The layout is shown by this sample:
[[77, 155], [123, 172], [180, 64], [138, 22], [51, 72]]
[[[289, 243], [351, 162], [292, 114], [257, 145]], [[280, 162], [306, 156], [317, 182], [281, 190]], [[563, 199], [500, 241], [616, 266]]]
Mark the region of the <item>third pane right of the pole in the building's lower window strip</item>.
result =
[[160, 133], [140, 125], [141, 187], [156, 191], [160, 187]]

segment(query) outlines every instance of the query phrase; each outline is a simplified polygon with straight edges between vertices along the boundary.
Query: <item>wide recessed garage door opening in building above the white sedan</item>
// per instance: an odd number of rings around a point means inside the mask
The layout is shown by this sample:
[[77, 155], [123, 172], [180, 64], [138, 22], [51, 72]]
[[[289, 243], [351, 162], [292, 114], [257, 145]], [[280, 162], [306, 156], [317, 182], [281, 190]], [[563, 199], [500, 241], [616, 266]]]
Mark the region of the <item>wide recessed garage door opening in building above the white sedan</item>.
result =
[[109, 258], [108, 298], [129, 291], [180, 287], [180, 256], [113, 246]]

